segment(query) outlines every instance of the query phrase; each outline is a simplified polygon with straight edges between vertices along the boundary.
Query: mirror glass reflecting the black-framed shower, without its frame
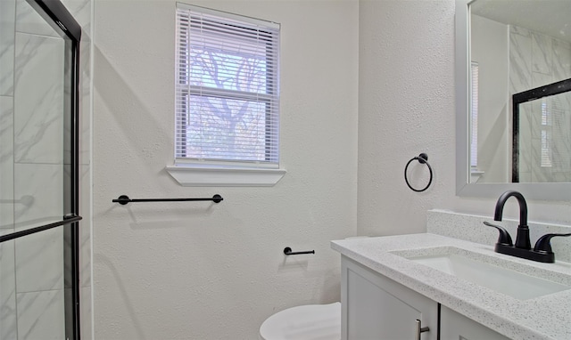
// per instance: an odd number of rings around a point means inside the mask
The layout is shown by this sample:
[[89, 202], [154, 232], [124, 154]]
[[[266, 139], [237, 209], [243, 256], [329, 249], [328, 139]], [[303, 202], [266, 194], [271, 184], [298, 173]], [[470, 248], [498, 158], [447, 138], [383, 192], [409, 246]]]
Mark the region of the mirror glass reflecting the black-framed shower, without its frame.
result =
[[469, 9], [469, 182], [571, 182], [569, 94], [528, 98], [517, 116], [512, 103], [571, 78], [571, 1], [475, 0]]

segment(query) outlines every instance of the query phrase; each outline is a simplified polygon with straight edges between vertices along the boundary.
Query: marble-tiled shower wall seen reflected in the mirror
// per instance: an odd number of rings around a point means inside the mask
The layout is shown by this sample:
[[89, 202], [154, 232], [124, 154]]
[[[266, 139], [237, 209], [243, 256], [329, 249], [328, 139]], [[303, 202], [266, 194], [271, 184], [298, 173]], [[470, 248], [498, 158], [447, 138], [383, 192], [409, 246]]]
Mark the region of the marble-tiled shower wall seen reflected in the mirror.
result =
[[[571, 44], [526, 28], [509, 28], [510, 95], [571, 77]], [[543, 107], [542, 107], [543, 105]], [[571, 182], [571, 95], [520, 105], [521, 182]], [[542, 112], [544, 115], [542, 119]], [[563, 137], [563, 138], [560, 138]], [[548, 144], [546, 144], [547, 142]], [[545, 148], [542, 151], [542, 146]], [[561, 156], [564, 157], [561, 157]]]

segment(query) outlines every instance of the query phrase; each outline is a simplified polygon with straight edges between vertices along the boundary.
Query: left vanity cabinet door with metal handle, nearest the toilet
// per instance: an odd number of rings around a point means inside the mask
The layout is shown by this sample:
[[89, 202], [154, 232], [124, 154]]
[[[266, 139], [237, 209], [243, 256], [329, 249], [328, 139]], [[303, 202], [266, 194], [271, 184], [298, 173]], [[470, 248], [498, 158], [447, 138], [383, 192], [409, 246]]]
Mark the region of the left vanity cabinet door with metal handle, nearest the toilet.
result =
[[344, 256], [342, 271], [342, 339], [416, 340], [420, 320], [420, 338], [436, 340], [434, 301]]

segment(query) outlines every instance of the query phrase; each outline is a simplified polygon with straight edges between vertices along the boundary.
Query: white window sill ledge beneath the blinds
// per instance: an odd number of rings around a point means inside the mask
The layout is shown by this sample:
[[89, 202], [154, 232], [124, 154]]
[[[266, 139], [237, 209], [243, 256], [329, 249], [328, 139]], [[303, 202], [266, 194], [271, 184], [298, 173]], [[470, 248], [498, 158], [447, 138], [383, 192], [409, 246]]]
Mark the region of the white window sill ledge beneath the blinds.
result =
[[166, 166], [167, 172], [183, 187], [270, 187], [285, 169]]

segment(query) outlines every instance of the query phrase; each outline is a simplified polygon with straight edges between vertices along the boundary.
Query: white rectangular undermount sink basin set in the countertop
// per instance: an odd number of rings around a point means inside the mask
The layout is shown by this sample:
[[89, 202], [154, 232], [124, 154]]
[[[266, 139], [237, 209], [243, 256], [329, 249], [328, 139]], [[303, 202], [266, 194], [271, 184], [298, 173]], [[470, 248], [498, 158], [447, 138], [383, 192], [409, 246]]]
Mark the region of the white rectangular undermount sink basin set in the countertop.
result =
[[[525, 264], [515, 263], [515, 267], [518, 269], [515, 271], [509, 269], [514, 263], [510, 263], [508, 260], [473, 253], [456, 247], [415, 249], [393, 252], [393, 254], [519, 300], [532, 299], [571, 289], [571, 286], [559, 282], [525, 274], [525, 272], [537, 273], [535, 267], [525, 268]], [[539, 276], [541, 276], [541, 271]]]

